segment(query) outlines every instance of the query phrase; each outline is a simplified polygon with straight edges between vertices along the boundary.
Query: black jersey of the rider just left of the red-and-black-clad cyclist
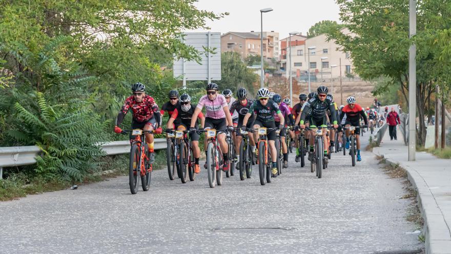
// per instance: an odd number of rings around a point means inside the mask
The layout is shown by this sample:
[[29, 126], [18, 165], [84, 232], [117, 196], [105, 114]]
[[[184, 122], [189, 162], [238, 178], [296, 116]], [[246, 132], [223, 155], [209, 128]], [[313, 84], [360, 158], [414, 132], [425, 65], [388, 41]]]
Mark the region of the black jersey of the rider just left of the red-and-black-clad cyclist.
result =
[[326, 110], [329, 109], [331, 111], [332, 119], [330, 121], [333, 124], [337, 123], [337, 113], [335, 111], [335, 105], [332, 102], [331, 96], [327, 96], [326, 99], [321, 102], [319, 100], [318, 95], [306, 101], [304, 104], [304, 109], [302, 109], [301, 114], [301, 123], [305, 121], [305, 116], [310, 112], [311, 118], [314, 119], [322, 119], [326, 116]]

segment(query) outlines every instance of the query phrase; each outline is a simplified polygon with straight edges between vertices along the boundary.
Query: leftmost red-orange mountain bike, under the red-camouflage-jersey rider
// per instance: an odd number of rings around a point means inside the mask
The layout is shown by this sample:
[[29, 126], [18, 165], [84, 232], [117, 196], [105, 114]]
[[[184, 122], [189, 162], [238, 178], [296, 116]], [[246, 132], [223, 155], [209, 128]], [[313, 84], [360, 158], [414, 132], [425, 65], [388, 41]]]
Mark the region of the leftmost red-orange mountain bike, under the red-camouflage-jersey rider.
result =
[[[132, 133], [135, 139], [131, 140], [130, 163], [129, 163], [129, 185], [130, 192], [138, 192], [138, 174], [141, 178], [142, 190], [148, 191], [152, 179], [152, 164], [149, 163], [150, 153], [146, 143], [145, 135], [153, 133], [153, 130], [122, 130], [122, 134]], [[143, 142], [144, 141], [144, 142]]]

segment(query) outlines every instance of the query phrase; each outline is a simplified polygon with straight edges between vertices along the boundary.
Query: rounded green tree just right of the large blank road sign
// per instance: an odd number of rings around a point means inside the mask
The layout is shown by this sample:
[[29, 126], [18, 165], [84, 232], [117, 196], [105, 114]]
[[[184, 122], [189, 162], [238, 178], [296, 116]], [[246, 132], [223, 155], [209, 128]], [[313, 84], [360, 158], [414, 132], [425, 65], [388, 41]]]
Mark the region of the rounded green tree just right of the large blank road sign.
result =
[[248, 91], [253, 91], [253, 83], [257, 82], [258, 75], [248, 69], [241, 61], [241, 56], [237, 52], [224, 52], [221, 54], [221, 80], [218, 81], [220, 89], [231, 89], [236, 91], [239, 87], [244, 87]]

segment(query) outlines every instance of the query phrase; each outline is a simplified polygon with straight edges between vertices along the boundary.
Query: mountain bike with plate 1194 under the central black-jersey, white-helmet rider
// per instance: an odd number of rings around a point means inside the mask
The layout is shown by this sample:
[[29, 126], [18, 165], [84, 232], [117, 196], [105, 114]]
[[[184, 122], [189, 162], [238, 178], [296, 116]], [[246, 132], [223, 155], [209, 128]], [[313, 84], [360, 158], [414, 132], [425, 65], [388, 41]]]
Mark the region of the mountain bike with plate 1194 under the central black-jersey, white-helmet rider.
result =
[[258, 131], [258, 171], [261, 185], [265, 185], [265, 175], [266, 182], [271, 183], [272, 159], [270, 149], [268, 149], [267, 133], [273, 130], [277, 130], [277, 128], [260, 127], [258, 129], [252, 129], [252, 131]]

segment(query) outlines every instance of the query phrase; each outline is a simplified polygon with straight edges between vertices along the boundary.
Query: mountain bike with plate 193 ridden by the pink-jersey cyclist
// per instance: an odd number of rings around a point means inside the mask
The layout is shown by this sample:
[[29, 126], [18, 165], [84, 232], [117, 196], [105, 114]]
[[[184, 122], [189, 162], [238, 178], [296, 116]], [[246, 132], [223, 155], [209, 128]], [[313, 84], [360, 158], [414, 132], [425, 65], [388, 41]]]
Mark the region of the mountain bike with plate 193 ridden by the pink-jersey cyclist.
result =
[[222, 185], [222, 165], [223, 158], [221, 148], [219, 147], [219, 141], [216, 139], [217, 131], [227, 132], [226, 130], [206, 129], [199, 132], [206, 132], [206, 138], [208, 139], [207, 145], [207, 173], [208, 184], [210, 188], [214, 188], [217, 185]]

